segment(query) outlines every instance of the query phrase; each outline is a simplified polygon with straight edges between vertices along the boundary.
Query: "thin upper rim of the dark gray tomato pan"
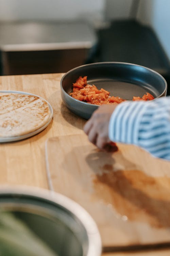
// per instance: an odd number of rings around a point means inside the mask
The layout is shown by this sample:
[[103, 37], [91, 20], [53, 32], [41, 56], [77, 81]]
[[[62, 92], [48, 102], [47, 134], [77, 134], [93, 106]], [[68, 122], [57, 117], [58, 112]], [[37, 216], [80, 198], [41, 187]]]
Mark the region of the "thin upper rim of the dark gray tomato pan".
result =
[[[77, 69], [79, 69], [79, 68], [90, 67], [90, 66], [94, 66], [94, 65], [97, 66], [97, 65], [101, 65], [101, 64], [102, 64], [102, 65], [103, 65], [103, 64], [106, 64], [106, 65], [107, 65], [107, 64], [122, 64], [122, 65], [129, 65], [129, 66], [135, 66], [135, 67], [141, 67], [141, 68], [147, 69], [148, 71], [150, 71], [150, 72], [155, 73], [156, 75], [158, 75], [158, 76], [164, 81], [164, 83], [165, 83], [165, 89], [164, 89], [164, 91], [162, 92], [162, 94], [160, 94], [160, 95], [159, 95], [158, 97], [156, 97], [156, 98], [162, 97], [162, 96], [165, 94], [165, 92], [167, 91], [167, 81], [165, 80], [165, 78], [164, 78], [161, 74], [159, 74], [157, 71], [155, 71], [155, 70], [153, 70], [153, 69], [147, 68], [147, 67], [142, 66], [142, 65], [134, 64], [134, 63], [129, 63], [129, 62], [105, 61], [105, 62], [94, 62], [94, 63], [90, 63], [90, 64], [78, 66], [78, 67], [75, 67], [75, 68], [73, 68], [73, 69], [67, 71], [67, 72], [62, 76], [62, 79], [61, 79], [61, 82], [60, 82], [61, 90], [63, 91], [63, 93], [66, 94], [69, 98], [71, 98], [71, 99], [73, 99], [73, 100], [75, 100], [75, 101], [77, 101], [77, 102], [80, 102], [80, 100], [77, 100], [77, 99], [71, 97], [71, 96], [64, 90], [63, 85], [62, 85], [64, 78], [65, 78], [68, 74], [70, 74], [71, 72], [73, 72], [74, 70], [77, 70]], [[71, 85], [71, 86], [72, 86], [72, 85]], [[84, 104], [84, 105], [88, 105], [88, 106], [89, 106], [89, 103], [87, 103], [87, 102], [81, 101], [81, 103]], [[95, 106], [100, 106], [100, 105], [95, 104]]]

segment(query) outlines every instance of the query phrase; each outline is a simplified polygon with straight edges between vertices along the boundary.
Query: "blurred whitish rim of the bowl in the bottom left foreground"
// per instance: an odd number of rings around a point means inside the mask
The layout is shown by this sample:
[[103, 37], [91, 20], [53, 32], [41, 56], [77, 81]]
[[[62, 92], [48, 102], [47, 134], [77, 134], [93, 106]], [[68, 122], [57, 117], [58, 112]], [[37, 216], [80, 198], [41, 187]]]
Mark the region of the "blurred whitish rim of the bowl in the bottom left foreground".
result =
[[88, 249], [87, 254], [83, 254], [83, 256], [101, 256], [102, 242], [96, 222], [91, 215], [74, 200], [52, 190], [27, 185], [1, 185], [0, 195], [5, 194], [32, 196], [37, 199], [45, 199], [61, 205], [79, 219], [87, 232]]

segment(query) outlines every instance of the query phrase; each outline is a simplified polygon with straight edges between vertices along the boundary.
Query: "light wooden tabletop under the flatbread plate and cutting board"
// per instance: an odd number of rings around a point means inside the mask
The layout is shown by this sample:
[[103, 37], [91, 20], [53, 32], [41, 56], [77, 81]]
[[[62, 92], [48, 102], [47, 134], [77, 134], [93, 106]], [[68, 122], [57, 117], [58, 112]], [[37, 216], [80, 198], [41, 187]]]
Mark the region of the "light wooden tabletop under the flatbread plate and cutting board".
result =
[[[39, 134], [12, 143], [0, 144], [0, 185], [28, 185], [49, 189], [45, 162], [48, 138], [84, 134], [85, 120], [72, 114], [62, 103], [60, 80], [63, 74], [0, 76], [0, 90], [20, 90], [46, 99], [53, 108], [53, 120]], [[103, 253], [103, 256], [166, 256], [170, 249], [141, 252]]]

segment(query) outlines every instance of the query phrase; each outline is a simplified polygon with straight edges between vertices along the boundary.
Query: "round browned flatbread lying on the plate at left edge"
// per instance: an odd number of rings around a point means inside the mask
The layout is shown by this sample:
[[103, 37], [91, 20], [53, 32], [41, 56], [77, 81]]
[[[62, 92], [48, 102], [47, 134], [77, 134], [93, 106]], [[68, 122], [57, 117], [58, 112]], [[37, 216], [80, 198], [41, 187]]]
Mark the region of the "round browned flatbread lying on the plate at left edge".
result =
[[37, 96], [0, 94], [0, 137], [28, 134], [43, 127], [51, 118], [48, 103]]

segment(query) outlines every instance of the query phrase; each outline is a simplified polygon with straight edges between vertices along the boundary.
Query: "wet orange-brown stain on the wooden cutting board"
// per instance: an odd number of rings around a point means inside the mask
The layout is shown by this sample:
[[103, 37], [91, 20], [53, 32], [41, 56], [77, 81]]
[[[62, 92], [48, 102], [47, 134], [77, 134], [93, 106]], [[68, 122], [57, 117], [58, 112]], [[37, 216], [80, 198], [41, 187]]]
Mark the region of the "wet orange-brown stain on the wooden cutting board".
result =
[[130, 221], [170, 227], [170, 178], [105, 164], [93, 179], [94, 193]]

